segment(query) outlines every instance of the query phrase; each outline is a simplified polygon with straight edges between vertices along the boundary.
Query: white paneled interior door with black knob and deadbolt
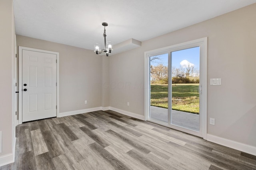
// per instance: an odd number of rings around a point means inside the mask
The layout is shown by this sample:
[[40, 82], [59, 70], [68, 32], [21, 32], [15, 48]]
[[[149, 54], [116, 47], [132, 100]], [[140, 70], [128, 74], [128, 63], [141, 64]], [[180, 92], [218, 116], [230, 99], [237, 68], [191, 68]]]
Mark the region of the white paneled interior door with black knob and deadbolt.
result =
[[56, 57], [22, 50], [22, 122], [56, 117]]

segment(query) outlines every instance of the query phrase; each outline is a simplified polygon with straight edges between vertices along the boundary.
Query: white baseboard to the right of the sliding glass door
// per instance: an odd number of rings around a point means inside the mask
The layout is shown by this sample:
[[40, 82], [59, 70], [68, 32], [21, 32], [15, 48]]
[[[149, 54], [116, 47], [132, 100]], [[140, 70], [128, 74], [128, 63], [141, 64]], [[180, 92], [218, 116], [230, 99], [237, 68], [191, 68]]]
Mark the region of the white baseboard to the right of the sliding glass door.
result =
[[217, 143], [219, 145], [223, 145], [225, 147], [229, 147], [232, 149], [240, 150], [242, 152], [246, 152], [248, 154], [252, 154], [256, 156], [256, 147], [251, 145], [246, 145], [244, 143], [239, 143], [236, 141], [232, 141], [229, 139], [225, 139], [225, 138], [218, 137], [215, 135], [210, 135], [210, 134], [207, 134], [207, 141]]

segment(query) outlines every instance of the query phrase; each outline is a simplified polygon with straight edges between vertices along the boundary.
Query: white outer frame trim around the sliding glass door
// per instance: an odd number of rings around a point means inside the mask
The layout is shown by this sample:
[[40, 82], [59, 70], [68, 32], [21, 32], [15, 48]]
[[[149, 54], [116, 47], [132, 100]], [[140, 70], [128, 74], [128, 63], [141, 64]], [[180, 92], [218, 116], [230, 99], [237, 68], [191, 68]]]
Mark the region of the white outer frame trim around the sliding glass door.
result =
[[[200, 102], [200, 122], [202, 123], [202, 131], [200, 131], [201, 134], [198, 135], [198, 132], [188, 130], [182, 127], [174, 126], [168, 123], [167, 127], [179, 130], [179, 131], [184, 131], [186, 133], [190, 133], [192, 135], [200, 136], [203, 139], [207, 140], [207, 37], [200, 38], [200, 39], [195, 39], [192, 41], [187, 41], [184, 43], [179, 43], [176, 45], [171, 45], [168, 47], [163, 47], [160, 49], [154, 49], [151, 51], [145, 51], [144, 52], [144, 57], [145, 57], [145, 62], [144, 62], [144, 82], [145, 82], [145, 87], [144, 87], [144, 116], [145, 120], [147, 121], [152, 121], [154, 123], [158, 123], [160, 125], [166, 126], [167, 123], [157, 121], [156, 119], [150, 120], [149, 118], [149, 98], [150, 98], [150, 71], [149, 71], [149, 57], [155, 56], [155, 55], [161, 55], [165, 53], [169, 53], [171, 51], [178, 51], [184, 48], [191, 48], [195, 47], [195, 45], [198, 45], [200, 47], [200, 55], [202, 54], [202, 57], [200, 56], [200, 85], [202, 85], [202, 96], [203, 96], [203, 101]], [[168, 54], [169, 55], [169, 54]], [[202, 71], [201, 71], [202, 70]], [[203, 72], [204, 70], [204, 72]], [[168, 116], [168, 119], [170, 117]]]

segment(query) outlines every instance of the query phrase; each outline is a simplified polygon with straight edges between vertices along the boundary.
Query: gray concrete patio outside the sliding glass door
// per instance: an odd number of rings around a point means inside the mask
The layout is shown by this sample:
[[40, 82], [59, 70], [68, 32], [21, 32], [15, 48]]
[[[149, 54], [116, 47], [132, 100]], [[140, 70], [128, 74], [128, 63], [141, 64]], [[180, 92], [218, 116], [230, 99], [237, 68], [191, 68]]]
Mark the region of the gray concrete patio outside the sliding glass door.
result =
[[[150, 106], [150, 117], [168, 122], [168, 109]], [[194, 131], [199, 131], [199, 115], [172, 110], [172, 125], [178, 125]]]

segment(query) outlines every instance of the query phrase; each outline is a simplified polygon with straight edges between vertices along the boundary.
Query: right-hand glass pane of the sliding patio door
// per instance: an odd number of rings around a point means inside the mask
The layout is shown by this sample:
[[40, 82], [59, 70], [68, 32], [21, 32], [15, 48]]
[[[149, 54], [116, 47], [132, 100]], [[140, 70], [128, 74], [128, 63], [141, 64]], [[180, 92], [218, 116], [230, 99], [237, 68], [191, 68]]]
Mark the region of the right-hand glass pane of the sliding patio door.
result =
[[171, 52], [171, 124], [200, 131], [200, 47]]

